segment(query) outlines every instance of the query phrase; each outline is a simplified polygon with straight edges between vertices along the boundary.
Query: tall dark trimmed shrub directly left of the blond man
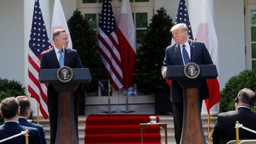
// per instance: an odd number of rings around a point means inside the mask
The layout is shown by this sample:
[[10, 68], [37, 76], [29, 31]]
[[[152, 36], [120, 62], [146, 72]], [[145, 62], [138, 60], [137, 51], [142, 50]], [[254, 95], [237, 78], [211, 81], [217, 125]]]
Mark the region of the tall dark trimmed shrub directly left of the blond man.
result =
[[168, 92], [166, 79], [161, 77], [161, 66], [166, 47], [171, 44], [172, 19], [164, 8], [156, 10], [147, 31], [142, 37], [142, 46], [137, 49], [136, 81], [144, 94]]

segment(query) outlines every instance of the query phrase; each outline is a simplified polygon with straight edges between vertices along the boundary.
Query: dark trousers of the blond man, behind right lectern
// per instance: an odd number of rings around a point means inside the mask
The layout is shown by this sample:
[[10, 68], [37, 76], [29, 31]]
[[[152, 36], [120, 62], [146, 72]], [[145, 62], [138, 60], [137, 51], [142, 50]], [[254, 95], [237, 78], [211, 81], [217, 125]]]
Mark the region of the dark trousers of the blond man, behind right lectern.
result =
[[[202, 101], [200, 106], [202, 107]], [[181, 103], [172, 103], [172, 110], [174, 115], [174, 135], [176, 143], [180, 143], [182, 126], [183, 126], [183, 101]]]

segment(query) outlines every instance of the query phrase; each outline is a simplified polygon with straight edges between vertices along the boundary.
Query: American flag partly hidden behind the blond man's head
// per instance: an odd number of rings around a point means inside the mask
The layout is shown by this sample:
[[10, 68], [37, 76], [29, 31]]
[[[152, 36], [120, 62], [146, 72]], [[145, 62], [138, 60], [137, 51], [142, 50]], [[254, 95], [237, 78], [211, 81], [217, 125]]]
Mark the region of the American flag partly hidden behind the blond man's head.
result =
[[191, 24], [188, 18], [188, 9], [186, 9], [185, 0], [180, 0], [178, 4], [178, 11], [176, 13], [175, 23], [186, 23], [186, 26], [188, 27], [188, 38], [193, 40], [193, 33], [191, 30]]

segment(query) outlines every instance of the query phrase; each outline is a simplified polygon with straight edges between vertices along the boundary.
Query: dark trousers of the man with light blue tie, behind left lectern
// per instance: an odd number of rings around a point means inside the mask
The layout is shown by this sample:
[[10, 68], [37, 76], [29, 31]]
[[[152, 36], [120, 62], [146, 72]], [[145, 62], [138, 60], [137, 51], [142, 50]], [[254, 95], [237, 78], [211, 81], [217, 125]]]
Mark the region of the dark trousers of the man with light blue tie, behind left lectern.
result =
[[[53, 88], [53, 87], [51, 87]], [[54, 89], [48, 87], [48, 113], [50, 118], [50, 144], [55, 143], [57, 126], [58, 126], [58, 93]], [[75, 125], [78, 128], [78, 96], [74, 98]], [[78, 131], [78, 129], [77, 129]]]

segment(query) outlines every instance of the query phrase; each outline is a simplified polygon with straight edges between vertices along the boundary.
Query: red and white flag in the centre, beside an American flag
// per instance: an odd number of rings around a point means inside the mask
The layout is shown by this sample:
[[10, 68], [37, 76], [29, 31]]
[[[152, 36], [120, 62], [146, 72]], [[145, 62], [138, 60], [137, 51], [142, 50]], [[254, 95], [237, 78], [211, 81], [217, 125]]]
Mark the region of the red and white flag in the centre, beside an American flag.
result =
[[129, 0], [122, 0], [119, 17], [118, 40], [122, 60], [124, 88], [129, 89], [135, 83], [134, 70], [136, 62], [136, 34]]

